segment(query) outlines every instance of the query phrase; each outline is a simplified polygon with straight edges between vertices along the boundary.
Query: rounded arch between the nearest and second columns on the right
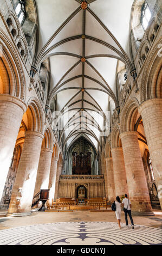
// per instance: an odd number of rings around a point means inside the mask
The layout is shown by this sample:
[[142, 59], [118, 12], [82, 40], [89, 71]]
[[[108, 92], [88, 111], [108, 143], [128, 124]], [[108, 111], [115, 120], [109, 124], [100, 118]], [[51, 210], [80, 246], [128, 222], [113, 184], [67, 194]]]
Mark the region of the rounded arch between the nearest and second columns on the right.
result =
[[120, 119], [120, 132], [134, 131], [135, 118], [138, 114], [139, 102], [136, 98], [131, 99], [124, 107]]

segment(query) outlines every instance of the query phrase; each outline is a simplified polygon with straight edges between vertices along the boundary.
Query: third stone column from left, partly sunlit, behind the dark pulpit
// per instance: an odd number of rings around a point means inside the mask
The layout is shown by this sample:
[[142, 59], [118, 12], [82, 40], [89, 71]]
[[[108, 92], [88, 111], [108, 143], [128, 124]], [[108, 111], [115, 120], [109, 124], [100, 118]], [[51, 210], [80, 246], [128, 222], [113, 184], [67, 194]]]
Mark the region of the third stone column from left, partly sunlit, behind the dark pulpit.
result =
[[40, 190], [48, 189], [52, 153], [53, 153], [53, 150], [51, 149], [48, 149], [48, 148], [41, 149], [34, 196], [35, 194], [40, 192]]

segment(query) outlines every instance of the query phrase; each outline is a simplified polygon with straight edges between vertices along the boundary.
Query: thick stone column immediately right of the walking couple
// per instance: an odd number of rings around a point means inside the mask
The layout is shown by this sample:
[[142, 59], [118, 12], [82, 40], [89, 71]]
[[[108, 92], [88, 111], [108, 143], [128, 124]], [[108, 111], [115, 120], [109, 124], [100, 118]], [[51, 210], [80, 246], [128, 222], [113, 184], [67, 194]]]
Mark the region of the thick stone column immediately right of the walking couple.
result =
[[137, 215], [153, 215], [144, 165], [138, 143], [138, 132], [120, 134], [132, 211]]

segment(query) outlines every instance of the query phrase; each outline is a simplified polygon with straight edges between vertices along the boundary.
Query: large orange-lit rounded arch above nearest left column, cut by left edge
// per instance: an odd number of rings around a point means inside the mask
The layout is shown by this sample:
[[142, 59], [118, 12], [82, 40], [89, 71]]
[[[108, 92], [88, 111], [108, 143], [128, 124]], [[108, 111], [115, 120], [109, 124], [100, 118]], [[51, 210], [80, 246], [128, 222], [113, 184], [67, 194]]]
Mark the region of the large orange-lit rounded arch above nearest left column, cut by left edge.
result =
[[0, 93], [25, 100], [25, 75], [14, 46], [0, 29]]

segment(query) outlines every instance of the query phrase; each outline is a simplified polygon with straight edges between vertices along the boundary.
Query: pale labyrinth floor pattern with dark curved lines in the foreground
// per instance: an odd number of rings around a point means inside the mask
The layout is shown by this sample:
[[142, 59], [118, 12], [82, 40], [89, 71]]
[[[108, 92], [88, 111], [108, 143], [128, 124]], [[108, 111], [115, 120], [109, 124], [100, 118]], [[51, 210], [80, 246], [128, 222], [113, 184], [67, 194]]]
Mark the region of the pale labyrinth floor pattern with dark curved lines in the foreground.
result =
[[162, 229], [113, 222], [59, 222], [0, 231], [0, 245], [162, 245]]

